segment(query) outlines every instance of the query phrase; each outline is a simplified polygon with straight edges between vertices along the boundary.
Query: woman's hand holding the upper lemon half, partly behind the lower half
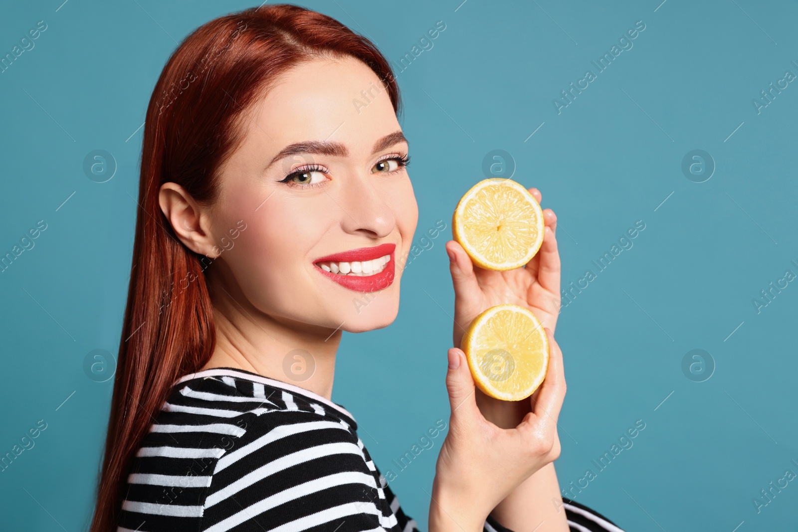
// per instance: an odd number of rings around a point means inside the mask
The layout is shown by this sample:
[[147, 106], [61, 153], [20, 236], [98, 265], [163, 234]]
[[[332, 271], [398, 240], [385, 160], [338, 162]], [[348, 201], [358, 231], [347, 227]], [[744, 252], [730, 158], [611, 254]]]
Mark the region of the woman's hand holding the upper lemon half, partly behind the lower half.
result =
[[[538, 203], [543, 199], [537, 188], [529, 189]], [[454, 331], [452, 339], [460, 346], [465, 329], [480, 313], [495, 305], [513, 303], [530, 309], [543, 327], [554, 334], [559, 315], [560, 263], [557, 250], [557, 216], [551, 209], [543, 210], [543, 244], [531, 261], [515, 270], [484, 270], [475, 266], [465, 250], [455, 240], [446, 242], [446, 251], [452, 260], [449, 270], [454, 285]], [[519, 424], [531, 411], [538, 392], [530, 400], [502, 401], [476, 390], [476, 403], [492, 423], [502, 428]]]

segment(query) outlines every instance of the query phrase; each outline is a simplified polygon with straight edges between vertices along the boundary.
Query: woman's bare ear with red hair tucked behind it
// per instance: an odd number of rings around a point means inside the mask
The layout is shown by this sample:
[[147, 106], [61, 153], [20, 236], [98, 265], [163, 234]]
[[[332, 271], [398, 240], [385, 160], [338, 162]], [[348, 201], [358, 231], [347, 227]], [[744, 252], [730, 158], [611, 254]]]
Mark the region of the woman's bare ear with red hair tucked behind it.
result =
[[207, 207], [201, 207], [192, 196], [177, 183], [164, 183], [158, 193], [160, 210], [172, 224], [177, 238], [189, 250], [216, 258], [221, 251], [211, 234], [210, 216]]

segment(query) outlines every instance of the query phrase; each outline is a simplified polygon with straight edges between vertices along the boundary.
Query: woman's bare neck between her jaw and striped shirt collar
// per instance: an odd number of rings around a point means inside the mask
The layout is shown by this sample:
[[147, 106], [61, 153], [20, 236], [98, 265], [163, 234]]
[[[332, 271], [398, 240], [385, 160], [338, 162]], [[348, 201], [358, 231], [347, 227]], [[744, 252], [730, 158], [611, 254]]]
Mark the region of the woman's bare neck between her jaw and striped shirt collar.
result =
[[211, 290], [216, 343], [200, 369], [244, 369], [331, 400], [341, 329], [267, 315], [236, 286], [223, 289]]

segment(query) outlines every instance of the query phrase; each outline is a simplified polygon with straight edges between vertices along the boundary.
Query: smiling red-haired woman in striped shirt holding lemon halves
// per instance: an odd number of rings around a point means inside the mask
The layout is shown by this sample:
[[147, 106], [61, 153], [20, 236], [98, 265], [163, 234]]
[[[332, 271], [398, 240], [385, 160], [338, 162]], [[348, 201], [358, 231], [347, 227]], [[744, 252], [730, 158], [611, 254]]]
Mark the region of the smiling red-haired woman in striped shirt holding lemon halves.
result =
[[[417, 530], [330, 400], [342, 331], [397, 316], [418, 217], [398, 111], [385, 57], [297, 6], [215, 19], [169, 59], [144, 128], [93, 532]], [[531, 400], [503, 403], [448, 350], [430, 530], [620, 530], [559, 496], [565, 380], [547, 211], [526, 270], [475, 271], [448, 242], [456, 324], [519, 301], [547, 325], [551, 364]]]

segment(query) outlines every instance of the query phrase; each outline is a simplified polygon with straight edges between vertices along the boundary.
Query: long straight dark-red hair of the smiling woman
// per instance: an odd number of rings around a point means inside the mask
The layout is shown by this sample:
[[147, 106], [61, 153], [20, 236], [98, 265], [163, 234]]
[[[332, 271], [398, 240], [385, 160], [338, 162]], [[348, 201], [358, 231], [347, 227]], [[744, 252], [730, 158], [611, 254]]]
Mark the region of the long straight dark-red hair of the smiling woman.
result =
[[239, 118], [286, 69], [324, 55], [363, 61], [400, 112], [389, 62], [365, 37], [324, 14], [287, 4], [215, 18], [180, 43], [152, 91], [144, 124], [139, 207], [128, 302], [91, 532], [115, 530], [133, 455], [174, 382], [215, 346], [207, 258], [180, 242], [160, 211], [166, 182], [201, 204], [243, 137]]

